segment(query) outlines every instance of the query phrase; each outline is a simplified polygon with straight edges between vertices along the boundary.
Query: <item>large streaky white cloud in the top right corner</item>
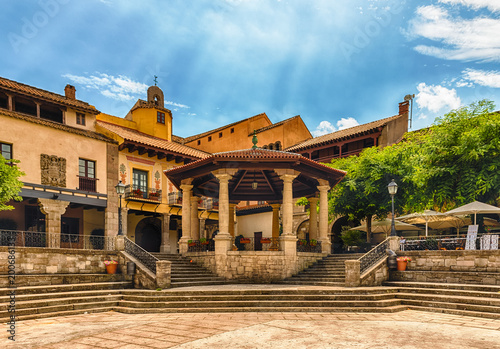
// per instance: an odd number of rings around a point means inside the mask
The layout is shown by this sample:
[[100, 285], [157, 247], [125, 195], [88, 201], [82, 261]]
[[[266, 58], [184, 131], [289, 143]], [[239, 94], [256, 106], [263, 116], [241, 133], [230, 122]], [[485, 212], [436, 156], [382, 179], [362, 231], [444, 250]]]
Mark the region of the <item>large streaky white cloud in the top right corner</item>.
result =
[[[486, 0], [483, 2], [486, 3]], [[499, 32], [499, 18], [484, 15], [472, 19], [452, 17], [445, 8], [434, 5], [419, 7], [416, 17], [410, 21], [408, 31], [412, 38], [435, 42], [433, 46], [415, 46], [417, 52], [442, 59], [464, 61], [500, 61]]]

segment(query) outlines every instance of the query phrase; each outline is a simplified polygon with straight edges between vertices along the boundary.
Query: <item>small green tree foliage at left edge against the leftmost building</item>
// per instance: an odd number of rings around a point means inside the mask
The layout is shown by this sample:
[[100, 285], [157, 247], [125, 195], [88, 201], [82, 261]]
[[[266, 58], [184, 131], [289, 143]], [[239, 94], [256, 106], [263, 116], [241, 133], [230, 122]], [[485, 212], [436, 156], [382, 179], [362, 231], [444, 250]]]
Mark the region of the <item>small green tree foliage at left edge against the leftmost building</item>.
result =
[[11, 200], [21, 201], [19, 192], [23, 187], [23, 182], [19, 177], [24, 176], [15, 163], [17, 160], [6, 160], [0, 155], [0, 211], [12, 210], [13, 206], [7, 205]]

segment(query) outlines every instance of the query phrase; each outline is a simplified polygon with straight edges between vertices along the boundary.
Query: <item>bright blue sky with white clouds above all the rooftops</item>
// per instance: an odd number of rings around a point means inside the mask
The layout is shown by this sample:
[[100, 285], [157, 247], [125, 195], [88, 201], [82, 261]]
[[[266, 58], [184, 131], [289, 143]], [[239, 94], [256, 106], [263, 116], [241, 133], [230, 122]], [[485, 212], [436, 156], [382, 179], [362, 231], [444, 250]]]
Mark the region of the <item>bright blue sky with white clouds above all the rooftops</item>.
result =
[[498, 0], [3, 0], [0, 76], [124, 117], [158, 86], [189, 136], [265, 112], [315, 135], [500, 109]]

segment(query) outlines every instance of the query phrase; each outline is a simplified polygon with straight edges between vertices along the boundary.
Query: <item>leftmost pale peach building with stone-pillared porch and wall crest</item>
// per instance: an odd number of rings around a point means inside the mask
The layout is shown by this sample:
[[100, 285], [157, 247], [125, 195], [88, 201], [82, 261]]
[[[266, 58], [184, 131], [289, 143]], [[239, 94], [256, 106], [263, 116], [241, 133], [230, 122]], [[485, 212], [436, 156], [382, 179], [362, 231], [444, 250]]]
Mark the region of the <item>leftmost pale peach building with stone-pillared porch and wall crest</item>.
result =
[[0, 212], [0, 228], [42, 232], [26, 243], [49, 247], [116, 234], [118, 145], [95, 131], [98, 113], [73, 86], [63, 96], [0, 78], [2, 155], [26, 174], [23, 200]]

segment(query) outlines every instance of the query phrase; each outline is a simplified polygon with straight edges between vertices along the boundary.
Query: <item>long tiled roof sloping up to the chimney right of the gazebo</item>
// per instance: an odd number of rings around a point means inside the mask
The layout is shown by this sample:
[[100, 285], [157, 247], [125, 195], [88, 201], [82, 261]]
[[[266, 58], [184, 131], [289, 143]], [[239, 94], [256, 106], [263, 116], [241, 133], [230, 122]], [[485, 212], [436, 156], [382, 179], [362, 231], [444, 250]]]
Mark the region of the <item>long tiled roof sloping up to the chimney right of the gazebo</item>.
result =
[[293, 145], [291, 147], [288, 147], [285, 149], [286, 151], [297, 151], [301, 149], [306, 149], [310, 147], [314, 147], [317, 145], [322, 145], [330, 142], [335, 142], [337, 140], [353, 137], [359, 134], [363, 134], [365, 132], [369, 132], [372, 130], [376, 130], [379, 127], [385, 126], [388, 122], [395, 120], [397, 118], [401, 117], [401, 115], [395, 115], [391, 116], [385, 119], [369, 122], [367, 124], [363, 125], [358, 125], [354, 127], [349, 127], [344, 130], [336, 131], [333, 133], [329, 133], [323, 136], [315, 137], [312, 139], [308, 139], [307, 141], [298, 143], [296, 145]]

